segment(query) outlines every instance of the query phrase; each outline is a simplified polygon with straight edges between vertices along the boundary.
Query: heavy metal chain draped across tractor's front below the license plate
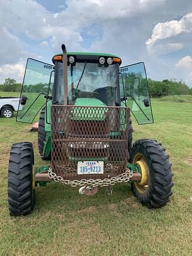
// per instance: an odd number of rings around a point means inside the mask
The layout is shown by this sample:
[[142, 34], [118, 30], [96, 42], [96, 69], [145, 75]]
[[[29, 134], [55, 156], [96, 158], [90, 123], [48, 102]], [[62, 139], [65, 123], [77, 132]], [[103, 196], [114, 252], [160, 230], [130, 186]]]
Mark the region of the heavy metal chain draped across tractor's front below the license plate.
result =
[[57, 176], [57, 174], [55, 174], [52, 171], [51, 167], [48, 169], [48, 177], [50, 179], [53, 179], [56, 182], [71, 185], [71, 187], [76, 187], [77, 185], [80, 185], [80, 186], [89, 185], [90, 187], [97, 187], [97, 186], [107, 187], [109, 185], [111, 185], [111, 186], [115, 185], [116, 183], [128, 182], [130, 180], [130, 178], [132, 178], [132, 176], [133, 176], [133, 172], [131, 171], [131, 169], [127, 168], [126, 171], [123, 172], [122, 174], [119, 174], [116, 177], [105, 178], [103, 180], [101, 180], [101, 179], [64, 180], [63, 177]]

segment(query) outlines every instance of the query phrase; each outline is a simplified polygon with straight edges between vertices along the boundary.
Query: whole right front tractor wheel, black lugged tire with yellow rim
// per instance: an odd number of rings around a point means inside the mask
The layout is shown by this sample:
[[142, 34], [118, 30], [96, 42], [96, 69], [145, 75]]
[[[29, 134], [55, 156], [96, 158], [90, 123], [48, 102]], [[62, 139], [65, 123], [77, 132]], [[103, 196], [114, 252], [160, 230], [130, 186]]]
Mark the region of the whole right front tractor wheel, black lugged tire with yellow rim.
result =
[[141, 171], [142, 179], [132, 183], [132, 191], [148, 208], [160, 208], [173, 194], [171, 164], [165, 149], [156, 140], [137, 140], [132, 146], [130, 161]]

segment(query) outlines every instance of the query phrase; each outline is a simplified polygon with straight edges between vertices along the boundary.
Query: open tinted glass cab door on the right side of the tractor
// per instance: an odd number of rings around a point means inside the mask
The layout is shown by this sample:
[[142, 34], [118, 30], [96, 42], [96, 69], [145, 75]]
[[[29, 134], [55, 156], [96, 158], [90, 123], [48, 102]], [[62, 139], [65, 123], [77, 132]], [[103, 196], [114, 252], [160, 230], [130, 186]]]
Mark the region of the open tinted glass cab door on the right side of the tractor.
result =
[[153, 123], [144, 62], [119, 68], [119, 84], [121, 100], [131, 109], [138, 124]]

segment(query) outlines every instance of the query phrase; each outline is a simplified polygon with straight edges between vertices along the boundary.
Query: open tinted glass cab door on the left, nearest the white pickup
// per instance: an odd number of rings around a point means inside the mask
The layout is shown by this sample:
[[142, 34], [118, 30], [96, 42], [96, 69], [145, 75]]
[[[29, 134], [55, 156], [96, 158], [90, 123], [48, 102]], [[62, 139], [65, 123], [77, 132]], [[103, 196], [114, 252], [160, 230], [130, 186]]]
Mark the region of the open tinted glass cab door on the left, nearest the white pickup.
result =
[[[54, 66], [29, 58], [19, 100], [17, 121], [32, 123], [35, 116], [51, 100]], [[52, 75], [53, 74], [53, 75]]]

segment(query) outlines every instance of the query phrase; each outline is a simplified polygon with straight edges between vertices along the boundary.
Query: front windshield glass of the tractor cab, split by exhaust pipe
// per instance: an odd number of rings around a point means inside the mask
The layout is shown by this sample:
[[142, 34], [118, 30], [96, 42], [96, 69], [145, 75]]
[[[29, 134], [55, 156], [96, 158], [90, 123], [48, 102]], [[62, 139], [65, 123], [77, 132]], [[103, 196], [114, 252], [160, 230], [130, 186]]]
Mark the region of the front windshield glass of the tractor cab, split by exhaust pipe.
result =
[[[57, 62], [55, 104], [63, 104], [63, 63]], [[98, 63], [77, 62], [68, 66], [68, 99], [75, 104], [77, 98], [96, 98], [105, 105], [116, 105], [118, 64], [99, 66]]]

